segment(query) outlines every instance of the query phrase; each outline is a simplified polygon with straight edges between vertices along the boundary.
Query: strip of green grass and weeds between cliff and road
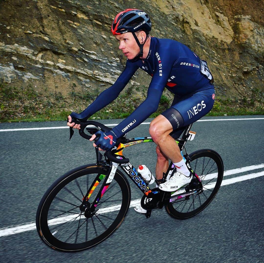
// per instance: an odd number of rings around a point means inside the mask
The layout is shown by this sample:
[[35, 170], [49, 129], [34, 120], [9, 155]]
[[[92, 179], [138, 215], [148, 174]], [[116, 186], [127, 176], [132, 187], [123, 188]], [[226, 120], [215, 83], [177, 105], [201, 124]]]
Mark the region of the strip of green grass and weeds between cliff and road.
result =
[[[0, 84], [0, 122], [64, 121], [71, 111], [81, 112], [99, 94], [99, 90], [94, 90], [93, 93], [77, 92], [74, 85], [71, 90], [65, 98], [56, 89], [53, 93], [44, 90], [44, 94], [35, 90], [31, 85], [18, 88]], [[128, 88], [108, 107], [101, 109], [90, 119], [126, 118], [139, 106], [146, 95], [147, 87], [141, 89], [140, 95], [132, 95], [131, 88]], [[259, 89], [252, 89], [251, 96], [247, 98], [216, 98], [214, 107], [207, 116], [264, 114], [263, 98], [264, 94]], [[171, 99], [162, 95], [158, 111], [150, 117], [158, 116], [170, 104]]]

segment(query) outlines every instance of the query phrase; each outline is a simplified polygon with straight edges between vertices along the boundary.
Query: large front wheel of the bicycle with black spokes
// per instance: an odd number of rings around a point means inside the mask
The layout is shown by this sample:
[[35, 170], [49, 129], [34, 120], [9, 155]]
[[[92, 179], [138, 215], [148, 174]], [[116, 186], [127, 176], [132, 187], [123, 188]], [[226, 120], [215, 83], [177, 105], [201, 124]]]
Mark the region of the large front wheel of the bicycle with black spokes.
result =
[[[104, 241], [120, 226], [129, 209], [131, 190], [128, 180], [119, 170], [98, 202], [96, 214], [86, 218], [80, 210], [82, 197], [92, 180], [94, 183], [96, 176], [106, 175], [108, 171], [109, 166], [83, 165], [61, 176], [46, 191], [37, 209], [36, 228], [47, 246], [63, 252], [85, 250]], [[91, 194], [92, 200], [99, 189], [100, 184]], [[115, 200], [111, 200], [113, 197]], [[107, 206], [109, 204], [110, 207]]]

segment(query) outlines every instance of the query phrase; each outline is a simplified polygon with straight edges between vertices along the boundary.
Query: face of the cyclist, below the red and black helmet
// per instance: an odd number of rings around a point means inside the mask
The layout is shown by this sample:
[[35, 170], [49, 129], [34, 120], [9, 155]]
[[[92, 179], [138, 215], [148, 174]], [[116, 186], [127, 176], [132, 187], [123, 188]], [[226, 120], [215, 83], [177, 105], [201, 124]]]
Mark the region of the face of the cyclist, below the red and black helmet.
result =
[[116, 35], [115, 37], [119, 43], [119, 49], [128, 59], [134, 59], [135, 56], [138, 55], [139, 46], [136, 43], [132, 33], [128, 32], [125, 34]]

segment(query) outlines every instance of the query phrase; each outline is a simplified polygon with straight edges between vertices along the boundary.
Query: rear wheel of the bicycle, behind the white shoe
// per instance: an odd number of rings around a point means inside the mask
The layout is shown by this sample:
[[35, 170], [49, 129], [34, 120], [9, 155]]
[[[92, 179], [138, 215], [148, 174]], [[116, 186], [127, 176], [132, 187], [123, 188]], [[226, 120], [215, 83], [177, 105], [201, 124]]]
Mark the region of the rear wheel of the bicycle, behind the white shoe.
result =
[[[223, 179], [223, 160], [216, 151], [202, 149], [192, 152], [189, 157], [189, 165], [199, 176], [202, 182], [203, 191], [199, 191], [181, 199], [179, 198], [178, 200], [165, 205], [166, 212], [169, 216], [176, 219], [187, 219], [193, 217], [205, 209], [205, 207], [207, 207], [207, 205], [209, 205], [215, 197]], [[207, 197], [208, 192], [211, 193]], [[181, 195], [184, 195], [185, 193], [186, 191], [182, 192]], [[167, 197], [171, 198], [173, 194], [175, 195], [173, 192], [168, 193]]]

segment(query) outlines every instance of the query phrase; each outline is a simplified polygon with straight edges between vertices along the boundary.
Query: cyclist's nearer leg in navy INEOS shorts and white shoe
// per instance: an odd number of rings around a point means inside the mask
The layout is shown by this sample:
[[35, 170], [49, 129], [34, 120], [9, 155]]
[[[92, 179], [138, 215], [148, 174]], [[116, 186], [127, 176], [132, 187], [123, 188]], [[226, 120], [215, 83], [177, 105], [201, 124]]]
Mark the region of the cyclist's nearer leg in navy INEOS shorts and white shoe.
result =
[[[149, 128], [153, 141], [160, 150], [177, 167], [169, 181], [160, 184], [159, 188], [164, 191], [180, 189], [191, 180], [190, 172], [182, 159], [180, 149], [175, 140], [169, 135], [173, 130], [189, 125], [208, 113], [214, 104], [214, 89], [197, 92], [182, 97], [175, 105], [167, 109], [162, 115], [155, 118]], [[159, 161], [159, 160], [158, 160]], [[157, 164], [159, 167], [159, 164]], [[179, 168], [179, 169], [178, 169]], [[161, 177], [159, 170], [156, 176]]]

